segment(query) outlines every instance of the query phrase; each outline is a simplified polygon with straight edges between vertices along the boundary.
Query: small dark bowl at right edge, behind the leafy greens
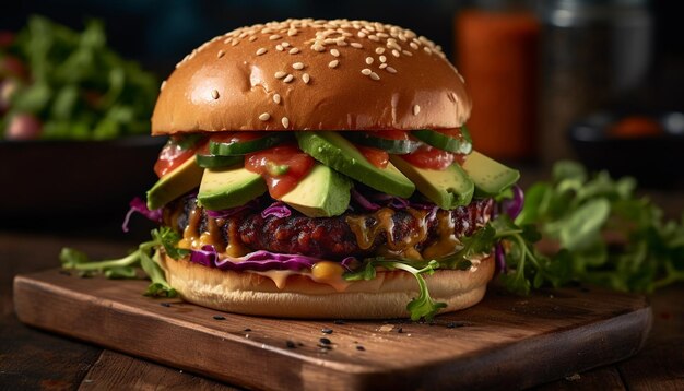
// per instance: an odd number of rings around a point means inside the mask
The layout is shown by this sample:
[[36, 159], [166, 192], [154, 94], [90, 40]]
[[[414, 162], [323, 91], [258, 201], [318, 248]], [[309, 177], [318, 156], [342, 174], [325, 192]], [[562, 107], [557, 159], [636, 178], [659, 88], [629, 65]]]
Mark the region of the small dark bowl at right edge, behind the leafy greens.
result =
[[[661, 128], [659, 134], [621, 137], [611, 130], [627, 117], [646, 117]], [[645, 132], [647, 133], [647, 132]], [[633, 176], [640, 186], [684, 188], [684, 114], [599, 111], [574, 123], [569, 139], [590, 170], [613, 177]]]

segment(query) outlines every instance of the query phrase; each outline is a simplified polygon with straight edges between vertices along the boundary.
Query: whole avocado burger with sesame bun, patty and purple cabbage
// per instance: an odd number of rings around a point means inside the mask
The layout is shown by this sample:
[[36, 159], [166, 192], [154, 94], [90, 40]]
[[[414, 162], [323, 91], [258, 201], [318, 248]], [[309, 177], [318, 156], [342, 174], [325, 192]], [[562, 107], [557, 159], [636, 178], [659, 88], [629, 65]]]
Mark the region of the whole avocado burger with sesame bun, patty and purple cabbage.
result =
[[472, 149], [439, 46], [367, 21], [217, 36], [162, 84], [148, 192], [185, 300], [288, 318], [432, 318], [479, 303], [518, 171]]

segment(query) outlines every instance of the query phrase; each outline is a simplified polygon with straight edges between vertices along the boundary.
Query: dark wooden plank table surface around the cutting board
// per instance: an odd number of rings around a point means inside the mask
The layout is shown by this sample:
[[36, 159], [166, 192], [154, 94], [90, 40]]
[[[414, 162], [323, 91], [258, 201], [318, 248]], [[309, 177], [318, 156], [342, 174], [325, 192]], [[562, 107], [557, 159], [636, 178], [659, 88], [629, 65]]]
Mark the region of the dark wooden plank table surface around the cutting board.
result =
[[[120, 257], [135, 246], [134, 239], [127, 240], [0, 230], [0, 390], [237, 389], [19, 322], [12, 304], [15, 274], [55, 268], [63, 246], [76, 247], [94, 258]], [[651, 303], [654, 324], [640, 353], [538, 389], [684, 390], [684, 285], [657, 292]]]

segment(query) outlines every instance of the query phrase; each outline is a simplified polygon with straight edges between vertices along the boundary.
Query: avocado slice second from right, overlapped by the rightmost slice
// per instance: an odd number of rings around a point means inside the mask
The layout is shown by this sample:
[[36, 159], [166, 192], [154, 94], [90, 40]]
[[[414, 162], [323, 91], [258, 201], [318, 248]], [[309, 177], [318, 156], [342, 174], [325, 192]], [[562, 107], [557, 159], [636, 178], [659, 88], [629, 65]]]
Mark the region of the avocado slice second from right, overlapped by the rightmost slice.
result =
[[398, 155], [391, 155], [390, 161], [415, 183], [423, 196], [441, 209], [468, 205], [473, 198], [473, 181], [457, 163], [438, 170], [415, 167]]

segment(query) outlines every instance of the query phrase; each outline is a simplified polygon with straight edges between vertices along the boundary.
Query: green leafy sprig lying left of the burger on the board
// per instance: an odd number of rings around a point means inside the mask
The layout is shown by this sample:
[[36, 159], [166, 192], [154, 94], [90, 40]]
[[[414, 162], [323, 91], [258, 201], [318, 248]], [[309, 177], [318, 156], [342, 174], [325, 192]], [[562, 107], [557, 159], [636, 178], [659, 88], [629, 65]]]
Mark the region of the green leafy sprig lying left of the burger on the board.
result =
[[138, 246], [130, 254], [114, 260], [91, 261], [87, 256], [79, 250], [63, 248], [59, 254], [63, 269], [76, 270], [80, 275], [86, 276], [93, 273], [103, 273], [107, 279], [134, 279], [137, 269], [142, 268], [151, 280], [145, 291], [145, 296], [176, 297], [178, 293], [170, 287], [160, 265], [160, 248], [174, 259], [180, 259], [188, 250], [176, 248], [179, 236], [168, 227], [152, 230], [152, 240]]

